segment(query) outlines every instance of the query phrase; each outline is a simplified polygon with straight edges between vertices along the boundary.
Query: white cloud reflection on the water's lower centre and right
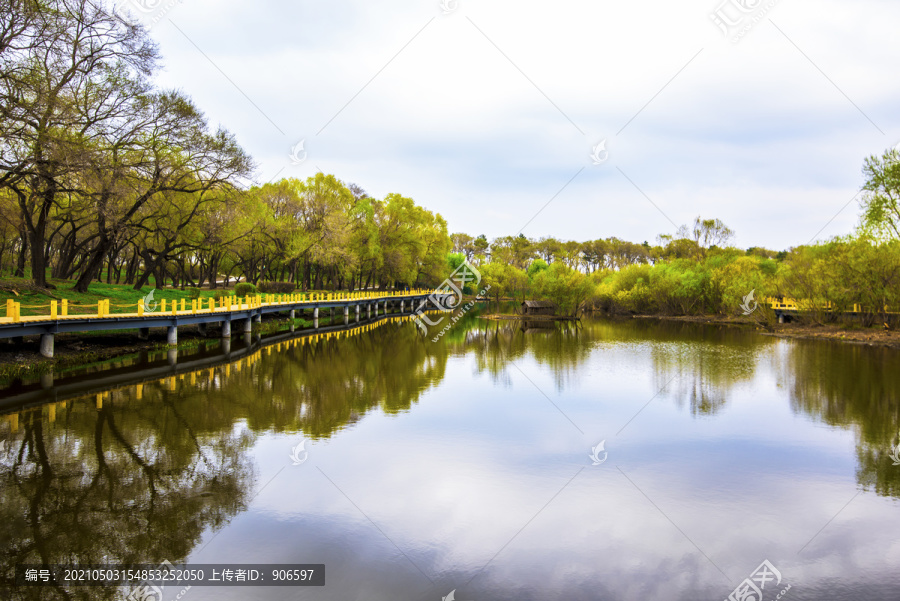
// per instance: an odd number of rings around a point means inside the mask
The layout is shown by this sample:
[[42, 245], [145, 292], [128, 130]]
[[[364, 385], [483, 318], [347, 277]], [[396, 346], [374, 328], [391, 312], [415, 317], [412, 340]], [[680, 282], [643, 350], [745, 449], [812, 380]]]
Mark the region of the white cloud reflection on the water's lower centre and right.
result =
[[[383, 440], [384, 434], [377, 437]], [[353, 448], [365, 442], [335, 440], [331, 456], [320, 454], [320, 465], [430, 576], [470, 576], [480, 569], [578, 469], [555, 454], [538, 469], [525, 471], [529, 451], [532, 459], [546, 456], [543, 443], [513, 447], [513, 460], [486, 460], [485, 446], [455, 437], [424, 452], [418, 437], [383, 446], [392, 461], [347, 469]], [[795, 586], [836, 573], [861, 573], [864, 566], [876, 583], [889, 577], [892, 564], [882, 551], [893, 541], [883, 526], [895, 512], [889, 501], [860, 495], [797, 558], [797, 550], [854, 494], [852, 476], [826, 468], [798, 477], [773, 469], [779, 454], [783, 457], [780, 444], [773, 442], [769, 449], [745, 444], [735, 454], [746, 466], [743, 472], [724, 460], [704, 471], [703, 457], [711, 448], [722, 450], [712, 443], [677, 459], [654, 463], [646, 457], [620, 467], [734, 578], [746, 575], [759, 557], [776, 562]], [[807, 459], [814, 457], [794, 457], [804, 467]], [[415, 581], [414, 568], [404, 567], [402, 558], [379, 559], [371, 552], [393, 550], [349, 501], [319, 480], [307, 475], [295, 482], [276, 480], [256, 507], [285, 524], [327, 524], [317, 535], [323, 540], [353, 532], [358, 552], [350, 561], [368, 570], [372, 562], [399, 566], [392, 569]], [[302, 500], [299, 488], [307, 494]], [[529, 577], [541, 567], [545, 577]], [[663, 599], [667, 592], [675, 598], [688, 593], [714, 598], [732, 588], [618, 471], [580, 474], [473, 584], [502, 589], [517, 581], [529, 583], [526, 599], [547, 598], [553, 591], [555, 598], [578, 598], [577, 591], [594, 587], [609, 590], [613, 599]]]

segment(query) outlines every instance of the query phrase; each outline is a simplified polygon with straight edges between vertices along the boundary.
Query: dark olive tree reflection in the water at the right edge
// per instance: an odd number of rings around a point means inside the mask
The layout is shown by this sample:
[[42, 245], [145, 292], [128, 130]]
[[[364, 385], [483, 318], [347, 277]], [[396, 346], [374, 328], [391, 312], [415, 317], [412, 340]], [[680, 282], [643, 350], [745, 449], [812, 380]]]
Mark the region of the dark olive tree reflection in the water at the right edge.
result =
[[793, 345], [782, 379], [791, 403], [831, 426], [858, 432], [857, 478], [878, 494], [900, 497], [900, 355], [847, 344]]

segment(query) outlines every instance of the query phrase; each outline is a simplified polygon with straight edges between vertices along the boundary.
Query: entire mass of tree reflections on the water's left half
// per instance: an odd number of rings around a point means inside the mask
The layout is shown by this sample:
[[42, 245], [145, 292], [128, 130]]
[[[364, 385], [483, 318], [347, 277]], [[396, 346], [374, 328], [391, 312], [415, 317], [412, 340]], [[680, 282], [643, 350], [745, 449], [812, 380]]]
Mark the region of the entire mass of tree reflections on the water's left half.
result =
[[397, 321], [360, 327], [362, 336], [277, 343], [0, 422], [0, 536], [8, 541], [0, 598], [117, 598], [114, 589], [10, 586], [22, 563], [183, 559], [206, 530], [245, 509], [255, 432], [325, 437], [373, 408], [409, 409], [443, 378], [447, 347]]

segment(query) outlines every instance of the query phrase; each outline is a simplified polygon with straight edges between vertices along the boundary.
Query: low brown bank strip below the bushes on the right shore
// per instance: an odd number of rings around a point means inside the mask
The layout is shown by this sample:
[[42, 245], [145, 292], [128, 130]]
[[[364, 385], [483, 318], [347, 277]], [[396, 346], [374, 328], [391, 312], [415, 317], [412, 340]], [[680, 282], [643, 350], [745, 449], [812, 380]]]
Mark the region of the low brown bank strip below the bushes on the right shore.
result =
[[795, 338], [801, 340], [836, 340], [851, 344], [882, 346], [900, 349], [900, 331], [885, 330], [883, 327], [864, 328], [862, 326], [818, 325], [804, 323], [762, 323], [752, 317], [732, 317], [726, 315], [634, 315], [634, 319], [657, 321], [682, 321], [713, 325], [753, 327], [764, 336]]

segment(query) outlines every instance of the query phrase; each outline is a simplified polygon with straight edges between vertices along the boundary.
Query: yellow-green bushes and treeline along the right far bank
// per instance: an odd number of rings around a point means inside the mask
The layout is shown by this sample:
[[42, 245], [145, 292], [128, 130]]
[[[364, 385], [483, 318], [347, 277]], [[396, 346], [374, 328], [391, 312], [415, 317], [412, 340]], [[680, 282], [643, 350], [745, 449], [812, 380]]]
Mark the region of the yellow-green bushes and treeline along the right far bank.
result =
[[[866, 162], [869, 183], [855, 234], [823, 243], [778, 252], [742, 250], [727, 245], [734, 233], [720, 220], [697, 217], [652, 246], [521, 234], [488, 242], [457, 233], [451, 236], [455, 262], [476, 265], [497, 300], [548, 299], [566, 314], [740, 314], [766, 297], [790, 297], [806, 301], [809, 317], [818, 322], [858, 309], [864, 325], [887, 323], [896, 319], [889, 313], [900, 312], [900, 236], [892, 230], [898, 213], [882, 184], [873, 182], [883, 182], [879, 174], [885, 170], [900, 182], [900, 157], [888, 151], [884, 159]], [[757, 316], [772, 315], [762, 307]]]

